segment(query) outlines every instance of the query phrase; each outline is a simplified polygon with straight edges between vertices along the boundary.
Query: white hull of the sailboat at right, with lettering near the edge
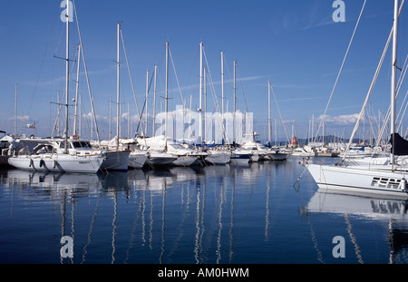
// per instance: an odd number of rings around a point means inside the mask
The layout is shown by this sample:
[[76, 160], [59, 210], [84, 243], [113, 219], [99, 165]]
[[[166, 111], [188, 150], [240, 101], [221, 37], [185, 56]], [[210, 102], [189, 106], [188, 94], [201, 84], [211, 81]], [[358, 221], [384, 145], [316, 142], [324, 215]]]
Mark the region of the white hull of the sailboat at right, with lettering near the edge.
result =
[[368, 170], [364, 167], [318, 164], [306, 166], [321, 189], [408, 198], [405, 189], [408, 173]]

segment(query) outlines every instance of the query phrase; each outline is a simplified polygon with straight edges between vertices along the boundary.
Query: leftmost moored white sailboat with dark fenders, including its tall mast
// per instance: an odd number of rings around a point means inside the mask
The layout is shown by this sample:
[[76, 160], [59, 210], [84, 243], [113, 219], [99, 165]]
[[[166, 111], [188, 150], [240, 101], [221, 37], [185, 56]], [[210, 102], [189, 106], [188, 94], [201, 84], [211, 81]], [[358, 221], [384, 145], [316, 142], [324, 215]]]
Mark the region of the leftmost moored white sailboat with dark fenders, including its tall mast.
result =
[[73, 146], [68, 140], [68, 102], [69, 102], [69, 22], [70, 5], [66, 5], [66, 57], [65, 57], [65, 132], [63, 139], [38, 139], [35, 151], [14, 151], [8, 163], [22, 170], [55, 172], [97, 172], [106, 155], [94, 151], [70, 150]]

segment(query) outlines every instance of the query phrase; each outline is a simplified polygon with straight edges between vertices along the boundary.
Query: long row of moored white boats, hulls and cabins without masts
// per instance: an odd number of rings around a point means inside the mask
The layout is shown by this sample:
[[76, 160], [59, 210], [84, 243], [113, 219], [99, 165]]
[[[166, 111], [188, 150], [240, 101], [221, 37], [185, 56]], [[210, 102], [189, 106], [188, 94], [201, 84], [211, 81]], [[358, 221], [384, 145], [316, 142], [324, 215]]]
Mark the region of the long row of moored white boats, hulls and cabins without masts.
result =
[[288, 151], [268, 148], [257, 141], [231, 146], [198, 147], [164, 136], [86, 141], [70, 138], [2, 139], [2, 161], [22, 170], [87, 172], [165, 166], [239, 164], [258, 160], [286, 160]]

